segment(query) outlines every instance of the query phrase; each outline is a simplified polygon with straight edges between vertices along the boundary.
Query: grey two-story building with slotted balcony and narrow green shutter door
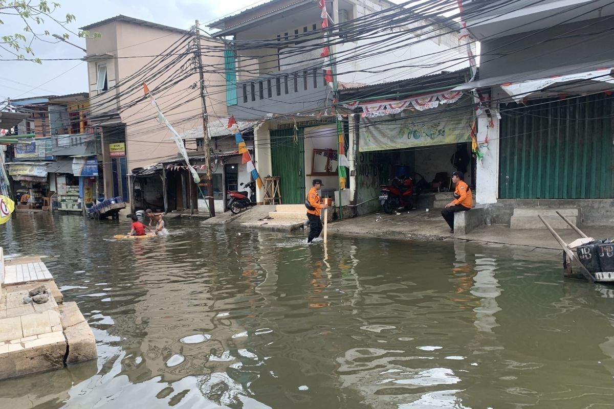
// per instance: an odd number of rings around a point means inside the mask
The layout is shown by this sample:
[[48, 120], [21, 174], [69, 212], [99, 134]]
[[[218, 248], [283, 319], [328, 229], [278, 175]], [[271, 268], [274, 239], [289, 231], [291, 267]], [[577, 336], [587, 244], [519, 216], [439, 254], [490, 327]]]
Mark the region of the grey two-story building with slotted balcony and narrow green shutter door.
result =
[[[323, 3], [273, 0], [209, 25], [227, 44], [228, 113], [260, 121], [256, 167], [260, 175], [281, 177], [284, 204], [302, 203], [316, 177], [327, 196], [340, 188], [339, 134], [348, 147], [353, 141], [348, 116], [335, 115], [337, 90], [468, 65], [457, 23], [387, 0]], [[443, 52], [446, 58], [437, 63], [433, 55]], [[388, 91], [383, 96], [395, 93], [394, 85]], [[349, 177], [345, 204], [356, 187], [354, 173]]]

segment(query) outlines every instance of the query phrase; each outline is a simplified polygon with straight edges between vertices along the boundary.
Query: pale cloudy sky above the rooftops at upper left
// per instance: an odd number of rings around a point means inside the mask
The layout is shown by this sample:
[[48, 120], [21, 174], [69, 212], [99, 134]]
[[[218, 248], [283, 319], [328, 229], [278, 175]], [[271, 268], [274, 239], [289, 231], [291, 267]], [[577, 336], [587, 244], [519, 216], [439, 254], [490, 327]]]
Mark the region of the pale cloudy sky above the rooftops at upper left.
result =
[[[257, 0], [55, 0], [60, 2], [58, 15], [72, 13], [76, 23], [69, 28], [78, 32], [79, 27], [123, 14], [141, 20], [153, 21], [166, 26], [189, 29], [194, 20], [201, 25], [217, 20], [224, 15], [238, 12], [246, 7], [261, 4]], [[3, 16], [0, 36], [23, 32], [23, 22]], [[51, 34], [63, 34], [60, 26], [45, 24]], [[51, 38], [52, 40], [55, 40]], [[69, 41], [85, 48], [85, 40], [71, 36]], [[34, 42], [38, 58], [80, 58], [79, 48], [60, 42], [47, 44]], [[0, 58], [14, 58], [0, 49]], [[87, 92], [87, 64], [84, 61], [44, 61], [42, 65], [26, 61], [0, 61], [0, 101], [7, 97], [17, 99], [29, 96], [64, 95]], [[33, 89], [36, 88], [36, 89]]]

